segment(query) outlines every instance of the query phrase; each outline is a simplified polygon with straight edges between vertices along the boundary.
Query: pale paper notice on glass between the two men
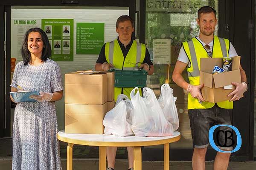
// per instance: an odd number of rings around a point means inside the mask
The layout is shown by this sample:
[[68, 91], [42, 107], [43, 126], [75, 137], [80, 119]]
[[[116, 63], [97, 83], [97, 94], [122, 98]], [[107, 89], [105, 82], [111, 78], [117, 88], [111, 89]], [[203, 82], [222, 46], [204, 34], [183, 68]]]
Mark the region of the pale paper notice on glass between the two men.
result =
[[168, 64], [171, 62], [171, 40], [153, 40], [153, 62], [154, 64]]

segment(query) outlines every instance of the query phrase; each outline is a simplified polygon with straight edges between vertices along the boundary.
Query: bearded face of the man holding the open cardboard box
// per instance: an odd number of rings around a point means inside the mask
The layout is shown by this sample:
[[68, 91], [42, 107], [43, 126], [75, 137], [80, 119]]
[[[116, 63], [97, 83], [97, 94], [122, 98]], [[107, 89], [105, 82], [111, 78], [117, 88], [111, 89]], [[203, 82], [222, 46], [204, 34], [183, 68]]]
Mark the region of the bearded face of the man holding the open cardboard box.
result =
[[196, 21], [200, 29], [200, 34], [209, 36], [214, 33], [215, 26], [217, 24], [217, 18], [213, 12], [209, 14], [200, 14], [200, 18], [196, 19]]

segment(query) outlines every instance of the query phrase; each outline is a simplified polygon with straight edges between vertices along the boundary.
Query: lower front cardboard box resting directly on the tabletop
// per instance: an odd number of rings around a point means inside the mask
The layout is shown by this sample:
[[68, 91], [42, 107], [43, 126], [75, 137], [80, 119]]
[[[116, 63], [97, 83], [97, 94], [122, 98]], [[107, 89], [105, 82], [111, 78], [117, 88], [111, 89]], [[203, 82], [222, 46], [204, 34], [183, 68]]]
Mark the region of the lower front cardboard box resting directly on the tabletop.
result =
[[65, 133], [103, 134], [103, 119], [108, 112], [104, 105], [65, 104]]

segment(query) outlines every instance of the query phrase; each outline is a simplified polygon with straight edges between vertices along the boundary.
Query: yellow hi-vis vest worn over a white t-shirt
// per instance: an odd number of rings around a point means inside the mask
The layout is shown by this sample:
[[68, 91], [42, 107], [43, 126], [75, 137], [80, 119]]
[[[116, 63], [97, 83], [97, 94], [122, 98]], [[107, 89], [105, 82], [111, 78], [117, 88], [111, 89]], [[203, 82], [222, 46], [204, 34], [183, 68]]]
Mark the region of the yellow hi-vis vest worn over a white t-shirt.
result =
[[[187, 67], [189, 82], [191, 85], [199, 85], [200, 58], [207, 58], [208, 53], [201, 42], [196, 38], [183, 42], [182, 45], [191, 64], [190, 67]], [[229, 48], [229, 40], [214, 36], [212, 57], [228, 57]], [[214, 105], [215, 103], [212, 102], [202, 102], [200, 104], [198, 103], [198, 99], [194, 99], [190, 93], [188, 94], [188, 109], [207, 109], [212, 108]], [[228, 100], [217, 102], [217, 105], [220, 108], [233, 108], [233, 102], [229, 102]]]

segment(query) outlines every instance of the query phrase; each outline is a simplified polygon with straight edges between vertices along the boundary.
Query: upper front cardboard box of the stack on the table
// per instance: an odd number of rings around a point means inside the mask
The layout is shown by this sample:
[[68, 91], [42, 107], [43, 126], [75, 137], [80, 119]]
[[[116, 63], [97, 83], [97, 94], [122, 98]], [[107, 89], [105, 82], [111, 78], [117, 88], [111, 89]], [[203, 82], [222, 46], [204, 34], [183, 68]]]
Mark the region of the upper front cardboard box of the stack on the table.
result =
[[102, 105], [107, 102], [107, 74], [65, 74], [65, 104]]

